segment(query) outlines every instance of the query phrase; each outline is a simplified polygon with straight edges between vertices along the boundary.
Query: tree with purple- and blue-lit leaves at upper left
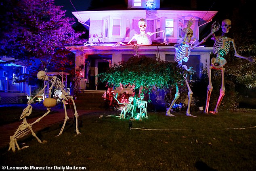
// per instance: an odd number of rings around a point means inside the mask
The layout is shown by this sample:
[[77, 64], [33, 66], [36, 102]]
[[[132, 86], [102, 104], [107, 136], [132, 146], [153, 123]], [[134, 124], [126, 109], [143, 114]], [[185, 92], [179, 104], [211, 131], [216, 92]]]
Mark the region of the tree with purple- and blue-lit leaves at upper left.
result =
[[[68, 44], [80, 44], [82, 33], [54, 0], [3, 0], [0, 54], [21, 60], [34, 72], [73, 70]], [[72, 68], [71, 68], [71, 67]]]

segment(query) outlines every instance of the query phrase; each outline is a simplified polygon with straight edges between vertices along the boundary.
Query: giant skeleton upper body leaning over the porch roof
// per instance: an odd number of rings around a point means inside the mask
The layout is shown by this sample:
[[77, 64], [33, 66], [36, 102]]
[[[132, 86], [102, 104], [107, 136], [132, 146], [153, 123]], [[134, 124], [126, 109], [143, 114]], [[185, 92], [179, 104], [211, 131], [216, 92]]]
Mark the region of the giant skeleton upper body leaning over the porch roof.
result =
[[[133, 39], [135, 39], [137, 41], [138, 45], [152, 45], [151, 36], [156, 34], [156, 33], [163, 33], [164, 42], [161, 43], [161, 44], [169, 45], [169, 43], [166, 40], [164, 30], [156, 31], [156, 32], [146, 32], [147, 21], [145, 19], [140, 19], [140, 21], [138, 21], [138, 27], [140, 29], [140, 33], [139, 34], [134, 34], [132, 39], [130, 39], [130, 41], [127, 44], [130, 44], [131, 41]], [[115, 43], [115, 45], [125, 45], [125, 44], [122, 43], [122, 42], [118, 42], [118, 43]]]

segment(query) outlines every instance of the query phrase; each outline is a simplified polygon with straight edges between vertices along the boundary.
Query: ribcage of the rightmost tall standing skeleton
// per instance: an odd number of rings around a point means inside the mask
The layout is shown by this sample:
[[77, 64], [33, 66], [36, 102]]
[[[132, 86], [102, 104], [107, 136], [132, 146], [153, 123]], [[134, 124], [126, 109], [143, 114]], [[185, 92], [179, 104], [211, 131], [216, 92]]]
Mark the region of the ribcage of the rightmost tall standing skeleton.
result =
[[218, 37], [213, 45], [213, 53], [217, 58], [226, 56], [229, 53], [230, 42], [226, 37]]

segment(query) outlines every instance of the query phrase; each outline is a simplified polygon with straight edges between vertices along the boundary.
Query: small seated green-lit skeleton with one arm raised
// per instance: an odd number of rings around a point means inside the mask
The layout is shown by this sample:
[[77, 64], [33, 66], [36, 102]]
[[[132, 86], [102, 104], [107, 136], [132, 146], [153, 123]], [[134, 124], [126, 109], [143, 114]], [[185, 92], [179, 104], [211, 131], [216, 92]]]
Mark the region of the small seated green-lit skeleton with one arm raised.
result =
[[[113, 96], [113, 98], [114, 98], [116, 101], [118, 101], [117, 96], [118, 96], [118, 93], [116, 93], [116, 95]], [[120, 103], [120, 102], [118, 101], [118, 104], [124, 104], [124, 105], [125, 105], [125, 106], [123, 107], [121, 113], [120, 113], [120, 116], [118, 116], [118, 117], [120, 117], [120, 119], [122, 119], [122, 118], [125, 119], [125, 117], [129, 115], [129, 113], [131, 113], [131, 117], [133, 117], [134, 105], [132, 105], [132, 101], [134, 100], [134, 97], [130, 96], [128, 100], [129, 100], [128, 103]], [[111, 115], [108, 115], [108, 116], [110, 117]]]

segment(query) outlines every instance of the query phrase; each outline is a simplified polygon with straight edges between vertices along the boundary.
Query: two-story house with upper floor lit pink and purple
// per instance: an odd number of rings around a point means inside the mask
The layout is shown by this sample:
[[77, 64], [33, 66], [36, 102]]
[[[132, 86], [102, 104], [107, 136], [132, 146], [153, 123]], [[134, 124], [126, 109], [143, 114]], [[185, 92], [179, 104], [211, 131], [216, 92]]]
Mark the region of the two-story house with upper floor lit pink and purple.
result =
[[[128, 0], [127, 10], [101, 10], [72, 12], [80, 23], [88, 29], [89, 41], [80, 46], [67, 46], [76, 54], [76, 70], [81, 76], [80, 89], [103, 90], [104, 85], [97, 84], [97, 74], [104, 72], [112, 63], [127, 61], [138, 54], [149, 58], [161, 58], [164, 61], [174, 61], [174, 44], [181, 43], [181, 30], [186, 27], [187, 21], [193, 18], [191, 26], [193, 36], [199, 40], [199, 29], [205, 24], [212, 24], [216, 11], [186, 11], [161, 10], [160, 0]], [[164, 31], [151, 36], [152, 45], [134, 45], [134, 40], [127, 45], [132, 36], [140, 33], [138, 21], [147, 21], [146, 32]], [[205, 31], [207, 34], [210, 30]], [[203, 37], [204, 38], [204, 37]], [[115, 43], [122, 42], [120, 46]], [[202, 44], [203, 45], [203, 44]], [[196, 76], [199, 77], [202, 66], [209, 64], [212, 47], [199, 46], [191, 51], [189, 61], [184, 63], [188, 68], [193, 66]]]

